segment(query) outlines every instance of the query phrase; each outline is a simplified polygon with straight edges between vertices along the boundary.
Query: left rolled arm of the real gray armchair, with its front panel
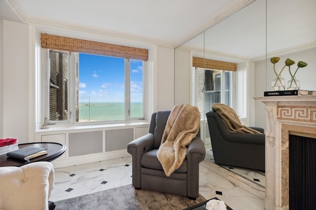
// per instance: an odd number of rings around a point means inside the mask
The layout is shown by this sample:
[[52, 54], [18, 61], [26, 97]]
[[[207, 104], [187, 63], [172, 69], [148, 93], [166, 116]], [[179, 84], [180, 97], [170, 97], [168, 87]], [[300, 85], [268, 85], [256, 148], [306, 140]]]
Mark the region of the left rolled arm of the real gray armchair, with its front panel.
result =
[[127, 152], [132, 155], [132, 184], [135, 188], [141, 188], [141, 159], [143, 153], [152, 150], [154, 145], [154, 134], [149, 133], [127, 145]]

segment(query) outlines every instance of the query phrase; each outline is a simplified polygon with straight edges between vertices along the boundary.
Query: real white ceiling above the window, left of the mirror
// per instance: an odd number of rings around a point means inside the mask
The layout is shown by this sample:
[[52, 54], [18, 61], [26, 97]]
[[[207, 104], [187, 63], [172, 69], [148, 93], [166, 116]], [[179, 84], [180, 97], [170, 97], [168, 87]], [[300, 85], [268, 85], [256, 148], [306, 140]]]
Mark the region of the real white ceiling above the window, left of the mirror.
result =
[[[14, 12], [8, 13], [8, 6], [4, 5], [6, 1], [14, 7]], [[0, 15], [3, 19], [13, 18], [16, 21], [18, 13], [22, 19], [58, 21], [176, 43], [238, 1], [240, 0], [1, 0]]]

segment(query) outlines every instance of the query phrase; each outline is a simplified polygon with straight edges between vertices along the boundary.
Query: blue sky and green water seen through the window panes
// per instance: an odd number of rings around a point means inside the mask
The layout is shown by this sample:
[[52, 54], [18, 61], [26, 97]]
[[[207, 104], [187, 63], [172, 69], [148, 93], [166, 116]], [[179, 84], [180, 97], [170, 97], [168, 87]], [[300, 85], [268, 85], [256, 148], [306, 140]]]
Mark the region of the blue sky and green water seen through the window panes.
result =
[[[77, 121], [124, 120], [125, 103], [130, 103], [129, 118], [143, 117], [142, 60], [129, 60], [129, 75], [122, 58], [79, 53], [78, 60]], [[130, 78], [127, 83], [126, 76]]]

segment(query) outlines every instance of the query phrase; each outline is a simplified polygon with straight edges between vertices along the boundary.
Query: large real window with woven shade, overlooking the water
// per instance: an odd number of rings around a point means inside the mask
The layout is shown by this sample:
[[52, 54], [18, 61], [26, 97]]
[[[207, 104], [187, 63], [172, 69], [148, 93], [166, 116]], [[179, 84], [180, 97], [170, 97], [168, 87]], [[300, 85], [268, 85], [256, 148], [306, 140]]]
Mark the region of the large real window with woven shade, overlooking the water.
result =
[[144, 119], [147, 49], [43, 33], [40, 42], [46, 71], [39, 106], [49, 122]]

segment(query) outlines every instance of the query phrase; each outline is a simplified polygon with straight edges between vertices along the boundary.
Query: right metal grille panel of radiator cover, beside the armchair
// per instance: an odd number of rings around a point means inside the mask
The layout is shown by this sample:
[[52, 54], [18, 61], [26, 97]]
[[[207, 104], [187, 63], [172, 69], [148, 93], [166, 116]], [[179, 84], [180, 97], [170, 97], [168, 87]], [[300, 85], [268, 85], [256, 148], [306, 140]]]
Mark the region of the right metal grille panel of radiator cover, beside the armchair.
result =
[[134, 129], [105, 131], [105, 151], [126, 150], [127, 144], [134, 140]]

